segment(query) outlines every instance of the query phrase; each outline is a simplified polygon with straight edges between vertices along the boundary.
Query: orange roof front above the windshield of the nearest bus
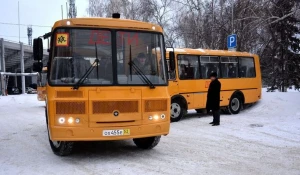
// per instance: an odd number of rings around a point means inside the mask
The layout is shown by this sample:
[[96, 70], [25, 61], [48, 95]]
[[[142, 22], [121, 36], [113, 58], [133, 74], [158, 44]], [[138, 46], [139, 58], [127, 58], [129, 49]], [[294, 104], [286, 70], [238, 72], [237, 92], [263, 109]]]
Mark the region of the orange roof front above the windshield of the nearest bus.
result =
[[136, 20], [119, 19], [119, 18], [71, 18], [56, 21], [52, 30], [57, 27], [94, 27], [94, 28], [115, 28], [156, 31], [162, 33], [163, 30], [159, 25], [141, 22]]

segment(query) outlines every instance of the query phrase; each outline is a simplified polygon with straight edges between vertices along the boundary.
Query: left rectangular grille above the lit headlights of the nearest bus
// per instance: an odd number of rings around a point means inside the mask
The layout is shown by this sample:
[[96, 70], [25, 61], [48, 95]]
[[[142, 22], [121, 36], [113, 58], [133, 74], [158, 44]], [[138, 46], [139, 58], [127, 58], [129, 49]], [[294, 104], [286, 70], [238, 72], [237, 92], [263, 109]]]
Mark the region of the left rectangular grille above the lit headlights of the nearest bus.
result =
[[85, 103], [56, 102], [56, 114], [85, 114]]

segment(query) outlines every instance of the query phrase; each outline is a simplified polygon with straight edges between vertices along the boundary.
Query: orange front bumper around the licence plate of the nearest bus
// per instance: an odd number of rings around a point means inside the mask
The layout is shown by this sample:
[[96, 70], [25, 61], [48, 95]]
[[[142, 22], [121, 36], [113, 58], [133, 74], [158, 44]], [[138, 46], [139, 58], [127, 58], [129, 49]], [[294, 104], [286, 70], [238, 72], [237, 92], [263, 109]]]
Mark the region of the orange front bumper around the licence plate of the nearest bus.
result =
[[[170, 123], [154, 123], [138, 126], [122, 127], [58, 127], [50, 126], [50, 140], [52, 141], [104, 141], [126, 140], [132, 138], [144, 138], [169, 134]], [[130, 130], [129, 135], [103, 136], [104, 130]]]

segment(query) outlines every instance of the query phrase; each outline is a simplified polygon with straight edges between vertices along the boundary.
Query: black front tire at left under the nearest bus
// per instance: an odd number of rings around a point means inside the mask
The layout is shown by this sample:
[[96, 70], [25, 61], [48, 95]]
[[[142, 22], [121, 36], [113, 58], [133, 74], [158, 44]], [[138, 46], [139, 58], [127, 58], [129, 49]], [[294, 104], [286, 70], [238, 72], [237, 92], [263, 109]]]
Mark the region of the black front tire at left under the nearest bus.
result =
[[53, 153], [58, 155], [58, 156], [70, 155], [73, 151], [74, 142], [62, 142], [62, 141], [52, 141], [52, 140], [50, 140], [47, 110], [45, 110], [45, 114], [46, 114], [46, 125], [47, 125], [48, 139], [49, 139], [50, 147], [51, 147]]

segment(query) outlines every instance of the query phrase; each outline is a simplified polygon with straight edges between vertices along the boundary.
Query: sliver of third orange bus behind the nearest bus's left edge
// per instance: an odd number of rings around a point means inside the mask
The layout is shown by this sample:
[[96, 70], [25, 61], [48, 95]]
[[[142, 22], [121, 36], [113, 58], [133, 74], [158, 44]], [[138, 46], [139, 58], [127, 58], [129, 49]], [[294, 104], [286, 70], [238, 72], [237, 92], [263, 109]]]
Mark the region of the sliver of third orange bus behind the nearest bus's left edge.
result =
[[43, 67], [42, 72], [38, 73], [37, 80], [37, 99], [45, 101], [46, 99], [46, 83], [47, 83], [47, 67]]

